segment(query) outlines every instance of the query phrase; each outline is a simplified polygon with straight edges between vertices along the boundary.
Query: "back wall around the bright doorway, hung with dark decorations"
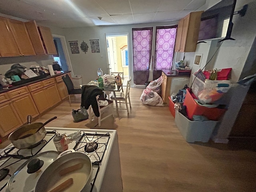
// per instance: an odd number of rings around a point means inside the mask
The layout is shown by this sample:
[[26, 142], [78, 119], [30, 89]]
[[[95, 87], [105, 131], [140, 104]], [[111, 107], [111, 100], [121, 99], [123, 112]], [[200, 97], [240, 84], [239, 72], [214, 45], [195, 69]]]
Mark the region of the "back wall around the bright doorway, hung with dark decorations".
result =
[[[70, 54], [70, 60], [74, 74], [81, 74], [83, 83], [89, 82], [96, 78], [96, 71], [98, 68], [102, 68], [103, 73], [107, 73], [108, 59], [106, 50], [106, 34], [126, 34], [128, 33], [128, 48], [129, 48], [129, 70], [132, 72], [132, 28], [148, 27], [148, 26], [165, 26], [176, 25], [178, 21], [171, 22], [159, 22], [150, 24], [136, 24], [136, 25], [119, 25], [119, 26], [95, 26], [84, 28], [67, 28], [62, 29], [62, 35], [65, 36], [67, 44], [68, 41], [78, 40], [78, 44], [84, 40], [87, 44], [90, 44], [90, 39], [99, 39], [100, 53], [92, 53], [89, 48], [88, 52], [84, 54]], [[54, 33], [54, 30], [53, 30]], [[132, 75], [132, 74], [130, 74]], [[133, 78], [132, 78], [133, 84]]]

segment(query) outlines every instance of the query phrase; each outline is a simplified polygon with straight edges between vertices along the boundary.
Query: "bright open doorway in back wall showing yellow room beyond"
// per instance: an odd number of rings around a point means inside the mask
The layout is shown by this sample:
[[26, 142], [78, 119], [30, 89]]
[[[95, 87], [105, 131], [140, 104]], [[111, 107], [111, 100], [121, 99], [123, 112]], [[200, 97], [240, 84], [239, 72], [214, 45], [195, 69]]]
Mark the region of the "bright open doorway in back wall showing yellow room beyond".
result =
[[129, 78], [129, 52], [128, 34], [106, 34], [108, 54], [108, 71], [124, 72], [124, 77]]

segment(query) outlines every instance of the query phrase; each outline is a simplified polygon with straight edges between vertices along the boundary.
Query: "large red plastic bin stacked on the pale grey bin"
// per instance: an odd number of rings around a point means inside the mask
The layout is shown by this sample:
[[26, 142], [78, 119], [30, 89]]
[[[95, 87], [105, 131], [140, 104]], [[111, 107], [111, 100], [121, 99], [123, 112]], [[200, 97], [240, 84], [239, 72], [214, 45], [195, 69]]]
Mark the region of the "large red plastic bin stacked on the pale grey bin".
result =
[[183, 105], [186, 106], [186, 111], [190, 119], [193, 119], [193, 115], [203, 115], [206, 116], [209, 120], [218, 121], [226, 112], [226, 109], [208, 108], [198, 105], [191, 95], [191, 89], [187, 89]]

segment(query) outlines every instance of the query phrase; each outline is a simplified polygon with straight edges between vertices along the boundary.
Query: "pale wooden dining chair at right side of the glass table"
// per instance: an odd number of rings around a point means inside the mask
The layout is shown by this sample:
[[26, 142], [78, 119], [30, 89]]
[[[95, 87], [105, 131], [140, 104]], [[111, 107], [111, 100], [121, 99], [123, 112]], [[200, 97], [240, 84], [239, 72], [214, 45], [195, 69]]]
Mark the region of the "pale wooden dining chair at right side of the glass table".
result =
[[[130, 105], [131, 108], [131, 101], [130, 101], [130, 86], [131, 86], [131, 80], [132, 78], [129, 78], [126, 84], [126, 90], [124, 93], [122, 92], [116, 92], [116, 100], [121, 104], [124, 103], [126, 105], [126, 110], [127, 113], [129, 114], [129, 108], [128, 104]], [[111, 97], [112, 100], [114, 100], [114, 96]], [[124, 108], [119, 108], [119, 109], [124, 109]]]

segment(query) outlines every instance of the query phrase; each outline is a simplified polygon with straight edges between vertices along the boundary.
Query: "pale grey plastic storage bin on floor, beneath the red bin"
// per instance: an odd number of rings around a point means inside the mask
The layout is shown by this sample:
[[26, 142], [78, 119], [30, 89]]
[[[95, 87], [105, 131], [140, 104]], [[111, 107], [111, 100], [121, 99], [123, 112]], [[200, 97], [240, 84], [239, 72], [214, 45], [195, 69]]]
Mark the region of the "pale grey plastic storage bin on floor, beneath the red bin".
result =
[[208, 142], [218, 121], [190, 121], [175, 111], [175, 123], [186, 142]]

